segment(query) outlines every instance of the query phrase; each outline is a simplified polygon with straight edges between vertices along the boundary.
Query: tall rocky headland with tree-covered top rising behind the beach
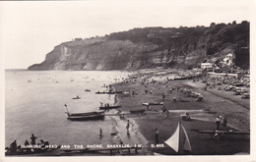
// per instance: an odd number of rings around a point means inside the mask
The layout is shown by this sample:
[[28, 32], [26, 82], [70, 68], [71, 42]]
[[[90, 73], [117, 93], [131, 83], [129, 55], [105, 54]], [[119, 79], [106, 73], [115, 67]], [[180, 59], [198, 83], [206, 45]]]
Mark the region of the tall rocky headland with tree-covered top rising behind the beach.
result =
[[[146, 27], [104, 37], [61, 43], [29, 70], [137, 70], [191, 68], [206, 60], [219, 62], [228, 53], [249, 67], [249, 23], [211, 27]], [[237, 59], [238, 58], [238, 59]]]

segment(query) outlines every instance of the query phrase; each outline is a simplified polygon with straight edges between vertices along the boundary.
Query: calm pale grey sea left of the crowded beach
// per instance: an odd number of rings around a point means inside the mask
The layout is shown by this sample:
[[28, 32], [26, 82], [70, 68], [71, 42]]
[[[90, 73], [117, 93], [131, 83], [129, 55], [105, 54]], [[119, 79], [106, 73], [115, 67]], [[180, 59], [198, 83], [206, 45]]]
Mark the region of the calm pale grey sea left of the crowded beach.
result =
[[[114, 103], [114, 95], [96, 94], [104, 85], [123, 81], [128, 72], [120, 71], [5, 71], [5, 145], [31, 141], [31, 135], [58, 145], [145, 144], [145, 138], [134, 128], [126, 134], [127, 121], [118, 116], [104, 120], [76, 122], [70, 113], [98, 111], [100, 102]], [[91, 91], [85, 91], [90, 89]], [[118, 90], [118, 89], [117, 89]], [[72, 99], [80, 96], [81, 99]], [[111, 110], [110, 114], [117, 113]], [[99, 136], [99, 129], [102, 136]], [[117, 135], [111, 135], [113, 129]]]

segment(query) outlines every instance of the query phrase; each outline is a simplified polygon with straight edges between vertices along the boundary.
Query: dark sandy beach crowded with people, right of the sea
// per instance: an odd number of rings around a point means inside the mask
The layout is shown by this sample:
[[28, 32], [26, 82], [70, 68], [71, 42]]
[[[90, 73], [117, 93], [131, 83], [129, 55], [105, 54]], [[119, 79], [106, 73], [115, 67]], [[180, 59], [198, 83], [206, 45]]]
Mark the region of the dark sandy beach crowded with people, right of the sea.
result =
[[[145, 80], [146, 79], [146, 80]], [[217, 116], [227, 119], [227, 126], [221, 126], [222, 131], [250, 131], [249, 99], [241, 99], [231, 92], [207, 88], [202, 81], [181, 80], [167, 81], [166, 77], [153, 75], [137, 75], [129, 81], [115, 83], [118, 90], [130, 92], [128, 96], [119, 95], [121, 111], [129, 113], [131, 110], [146, 110], [145, 115], [128, 115], [126, 120], [134, 120], [138, 125], [139, 134], [145, 136], [149, 144], [156, 144], [155, 129], [159, 130], [159, 143], [164, 148], [148, 145], [148, 150], [160, 154], [175, 155], [176, 152], [169, 148], [164, 141], [171, 136], [178, 124], [179, 116], [188, 112], [190, 121], [181, 121], [190, 138], [192, 151], [195, 155], [230, 155], [250, 153], [249, 135], [227, 135], [222, 140], [213, 139], [213, 135], [199, 134], [196, 131], [215, 131]], [[172, 89], [171, 92], [169, 89]], [[188, 97], [180, 89], [188, 88], [204, 96], [202, 102], [196, 98]], [[146, 93], [146, 89], [148, 93]], [[135, 93], [134, 95], [132, 93]], [[162, 105], [143, 106], [147, 102], [162, 102], [169, 114], [162, 115]], [[176, 102], [173, 102], [175, 97]], [[181, 152], [181, 154], [186, 154]]]

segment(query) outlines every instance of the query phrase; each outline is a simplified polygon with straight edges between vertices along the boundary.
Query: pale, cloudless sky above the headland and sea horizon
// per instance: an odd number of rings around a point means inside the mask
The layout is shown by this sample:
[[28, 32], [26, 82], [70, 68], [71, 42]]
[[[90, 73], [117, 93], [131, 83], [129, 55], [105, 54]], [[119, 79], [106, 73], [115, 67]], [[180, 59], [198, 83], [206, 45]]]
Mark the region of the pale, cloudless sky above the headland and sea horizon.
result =
[[251, 21], [250, 0], [85, 0], [0, 2], [4, 69], [41, 63], [61, 42], [134, 27], [209, 27]]

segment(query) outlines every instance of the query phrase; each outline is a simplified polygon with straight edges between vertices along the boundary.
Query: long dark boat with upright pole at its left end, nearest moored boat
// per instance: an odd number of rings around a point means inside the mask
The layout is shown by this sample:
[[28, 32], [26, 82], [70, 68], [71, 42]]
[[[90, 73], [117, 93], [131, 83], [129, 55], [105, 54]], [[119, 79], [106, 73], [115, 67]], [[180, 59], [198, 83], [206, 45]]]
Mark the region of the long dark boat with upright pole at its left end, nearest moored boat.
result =
[[89, 121], [89, 120], [103, 120], [104, 111], [99, 112], [88, 112], [88, 113], [67, 113], [68, 120], [71, 121]]

